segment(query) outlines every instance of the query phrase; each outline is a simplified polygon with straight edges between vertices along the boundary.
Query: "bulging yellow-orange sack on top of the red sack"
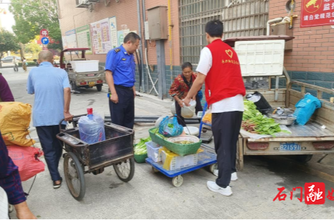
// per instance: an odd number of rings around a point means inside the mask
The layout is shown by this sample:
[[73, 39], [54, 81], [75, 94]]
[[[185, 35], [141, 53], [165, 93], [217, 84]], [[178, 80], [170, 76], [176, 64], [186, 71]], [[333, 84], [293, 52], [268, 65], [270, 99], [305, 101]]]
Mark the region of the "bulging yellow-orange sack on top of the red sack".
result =
[[27, 139], [31, 118], [31, 105], [22, 102], [0, 103], [0, 130], [6, 145], [29, 147], [35, 140]]

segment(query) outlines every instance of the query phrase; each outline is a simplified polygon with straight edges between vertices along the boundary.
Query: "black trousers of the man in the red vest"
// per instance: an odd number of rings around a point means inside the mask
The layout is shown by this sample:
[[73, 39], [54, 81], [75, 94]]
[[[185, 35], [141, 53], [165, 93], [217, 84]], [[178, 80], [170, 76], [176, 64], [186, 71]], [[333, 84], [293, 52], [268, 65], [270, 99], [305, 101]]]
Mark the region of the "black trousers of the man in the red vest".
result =
[[228, 111], [212, 114], [212, 133], [217, 154], [217, 185], [230, 185], [231, 174], [236, 172], [237, 138], [240, 133], [242, 111]]

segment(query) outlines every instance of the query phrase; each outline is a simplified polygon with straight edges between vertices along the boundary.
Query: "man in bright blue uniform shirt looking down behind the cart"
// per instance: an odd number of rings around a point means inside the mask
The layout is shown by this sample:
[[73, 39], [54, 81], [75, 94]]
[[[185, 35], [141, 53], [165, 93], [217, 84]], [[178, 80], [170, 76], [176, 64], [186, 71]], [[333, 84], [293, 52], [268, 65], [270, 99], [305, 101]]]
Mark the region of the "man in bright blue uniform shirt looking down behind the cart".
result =
[[120, 47], [106, 55], [106, 82], [111, 92], [109, 109], [112, 123], [133, 128], [135, 123], [135, 53], [140, 36], [134, 32], [125, 36]]

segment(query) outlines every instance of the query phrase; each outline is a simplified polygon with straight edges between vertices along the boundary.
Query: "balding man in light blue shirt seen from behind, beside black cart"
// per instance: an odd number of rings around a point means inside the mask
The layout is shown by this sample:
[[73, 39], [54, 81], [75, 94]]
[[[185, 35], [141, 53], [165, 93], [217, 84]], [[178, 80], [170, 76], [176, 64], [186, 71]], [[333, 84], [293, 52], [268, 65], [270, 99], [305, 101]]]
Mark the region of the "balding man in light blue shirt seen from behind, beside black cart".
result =
[[[45, 160], [54, 181], [54, 188], [59, 188], [61, 178], [58, 165], [63, 154], [63, 143], [56, 138], [60, 132], [59, 122], [65, 118], [70, 121], [70, 82], [68, 74], [56, 68], [51, 51], [41, 51], [38, 55], [39, 67], [33, 68], [27, 79], [27, 93], [35, 94], [32, 109], [32, 121], [41, 142]], [[66, 122], [63, 123], [63, 128]]]

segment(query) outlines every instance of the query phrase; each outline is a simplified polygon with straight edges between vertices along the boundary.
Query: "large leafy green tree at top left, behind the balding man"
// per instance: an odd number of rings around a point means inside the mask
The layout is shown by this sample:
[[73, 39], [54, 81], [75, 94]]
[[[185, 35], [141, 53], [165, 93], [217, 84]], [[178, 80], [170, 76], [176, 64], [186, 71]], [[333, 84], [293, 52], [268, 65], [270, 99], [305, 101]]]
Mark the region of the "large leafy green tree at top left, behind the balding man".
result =
[[61, 30], [58, 20], [56, 0], [12, 0], [9, 11], [13, 13], [16, 25], [13, 31], [21, 43], [21, 56], [24, 45], [39, 35], [40, 30], [49, 30], [49, 38], [60, 44], [49, 44], [52, 49], [62, 49]]

